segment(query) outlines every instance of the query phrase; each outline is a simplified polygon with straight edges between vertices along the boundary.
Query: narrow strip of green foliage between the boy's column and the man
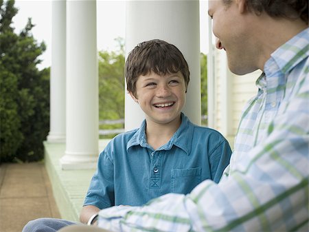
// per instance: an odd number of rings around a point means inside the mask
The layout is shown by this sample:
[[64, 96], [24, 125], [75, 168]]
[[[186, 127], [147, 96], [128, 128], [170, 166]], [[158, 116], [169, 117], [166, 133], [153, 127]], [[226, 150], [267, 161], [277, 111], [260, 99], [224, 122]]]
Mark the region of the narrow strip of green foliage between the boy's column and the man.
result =
[[202, 125], [207, 125], [207, 56], [201, 53], [201, 103]]

